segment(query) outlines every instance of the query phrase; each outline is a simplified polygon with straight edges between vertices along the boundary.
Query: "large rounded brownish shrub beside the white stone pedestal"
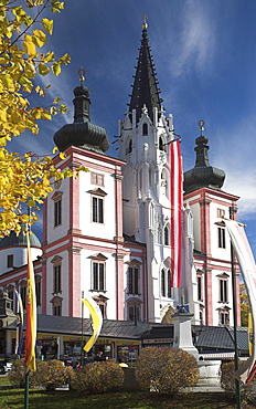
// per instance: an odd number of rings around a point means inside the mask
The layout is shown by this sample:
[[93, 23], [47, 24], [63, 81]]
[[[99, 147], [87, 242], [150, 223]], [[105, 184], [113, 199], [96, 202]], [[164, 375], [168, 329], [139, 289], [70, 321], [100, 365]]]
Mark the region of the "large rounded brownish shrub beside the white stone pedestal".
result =
[[182, 349], [148, 347], [137, 360], [136, 379], [142, 390], [174, 395], [196, 385], [198, 363]]

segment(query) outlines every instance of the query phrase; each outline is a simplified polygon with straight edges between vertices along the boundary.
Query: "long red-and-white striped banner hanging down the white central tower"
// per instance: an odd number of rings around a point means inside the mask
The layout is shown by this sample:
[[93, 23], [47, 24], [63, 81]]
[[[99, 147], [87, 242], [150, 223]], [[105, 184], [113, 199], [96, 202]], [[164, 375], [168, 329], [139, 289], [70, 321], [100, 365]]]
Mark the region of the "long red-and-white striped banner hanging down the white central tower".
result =
[[181, 209], [183, 203], [183, 176], [180, 140], [170, 144], [170, 202], [171, 202], [171, 286], [181, 286]]

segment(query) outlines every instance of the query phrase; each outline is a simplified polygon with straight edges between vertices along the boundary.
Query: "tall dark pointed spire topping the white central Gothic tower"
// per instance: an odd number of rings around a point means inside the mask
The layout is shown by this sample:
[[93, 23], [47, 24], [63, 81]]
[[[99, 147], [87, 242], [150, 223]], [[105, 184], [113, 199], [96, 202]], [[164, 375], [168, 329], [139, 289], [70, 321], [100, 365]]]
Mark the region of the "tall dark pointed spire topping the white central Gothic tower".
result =
[[158, 88], [158, 80], [156, 77], [156, 70], [152, 56], [150, 54], [149, 39], [147, 32], [147, 15], [143, 15], [142, 38], [139, 49], [138, 65], [136, 67], [135, 82], [132, 85], [132, 93], [130, 96], [129, 112], [136, 109], [137, 123], [141, 116], [143, 106], [148, 108], [148, 115], [153, 119], [153, 107], [161, 112], [160, 90]]

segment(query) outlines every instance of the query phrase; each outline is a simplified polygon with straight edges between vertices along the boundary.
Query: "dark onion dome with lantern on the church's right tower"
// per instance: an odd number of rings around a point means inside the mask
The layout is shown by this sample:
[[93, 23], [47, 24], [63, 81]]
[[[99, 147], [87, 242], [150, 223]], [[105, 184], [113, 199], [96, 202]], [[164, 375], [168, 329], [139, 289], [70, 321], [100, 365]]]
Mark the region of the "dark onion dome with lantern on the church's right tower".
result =
[[200, 130], [201, 135], [195, 139], [195, 166], [193, 169], [184, 172], [184, 195], [190, 193], [191, 191], [198, 190], [203, 187], [209, 187], [220, 190], [225, 180], [225, 172], [222, 169], [214, 168], [209, 164], [207, 156], [207, 141], [209, 139], [203, 136], [203, 126], [204, 122], [200, 120]]

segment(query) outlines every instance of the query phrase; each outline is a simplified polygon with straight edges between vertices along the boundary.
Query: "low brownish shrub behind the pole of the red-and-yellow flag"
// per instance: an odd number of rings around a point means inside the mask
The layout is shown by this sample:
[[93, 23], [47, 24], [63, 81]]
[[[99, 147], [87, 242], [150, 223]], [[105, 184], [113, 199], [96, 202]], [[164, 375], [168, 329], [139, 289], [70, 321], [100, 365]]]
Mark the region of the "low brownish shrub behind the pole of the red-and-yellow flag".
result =
[[[24, 359], [17, 359], [8, 375], [10, 381], [23, 388], [25, 386], [25, 371]], [[36, 370], [30, 371], [29, 384], [30, 386], [43, 387], [46, 390], [54, 390], [70, 382], [72, 376], [73, 369], [63, 366], [60, 360], [44, 361], [36, 359]]]

